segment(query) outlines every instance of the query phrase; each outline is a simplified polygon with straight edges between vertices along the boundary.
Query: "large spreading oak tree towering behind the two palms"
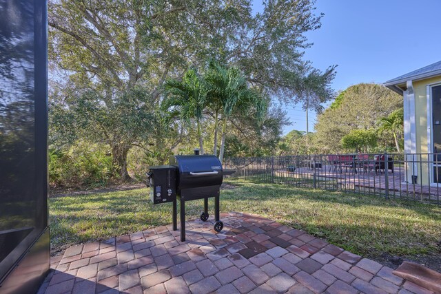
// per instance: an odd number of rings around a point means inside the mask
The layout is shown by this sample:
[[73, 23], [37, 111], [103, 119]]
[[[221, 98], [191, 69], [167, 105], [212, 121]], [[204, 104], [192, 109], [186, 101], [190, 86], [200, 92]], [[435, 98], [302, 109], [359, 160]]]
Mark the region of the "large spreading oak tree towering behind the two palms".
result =
[[[320, 28], [314, 1], [264, 6], [253, 14], [247, 0], [50, 1], [51, 77], [59, 84], [50, 98], [63, 113], [55, 117], [108, 143], [127, 179], [127, 151], [154, 134], [149, 118], [165, 79], [181, 78], [189, 66], [236, 65], [253, 87], [287, 103], [330, 98], [334, 67], [321, 72], [303, 60], [311, 45], [305, 32]], [[63, 119], [58, 125], [66, 129]]]

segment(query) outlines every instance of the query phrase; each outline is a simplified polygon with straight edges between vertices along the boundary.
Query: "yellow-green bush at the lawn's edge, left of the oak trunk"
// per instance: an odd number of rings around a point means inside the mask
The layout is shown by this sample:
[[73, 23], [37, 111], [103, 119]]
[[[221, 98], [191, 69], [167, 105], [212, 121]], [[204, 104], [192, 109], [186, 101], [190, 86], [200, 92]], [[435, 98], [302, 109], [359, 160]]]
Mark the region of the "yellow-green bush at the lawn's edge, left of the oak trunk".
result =
[[52, 187], [97, 187], [118, 179], [107, 145], [78, 141], [68, 149], [49, 150]]

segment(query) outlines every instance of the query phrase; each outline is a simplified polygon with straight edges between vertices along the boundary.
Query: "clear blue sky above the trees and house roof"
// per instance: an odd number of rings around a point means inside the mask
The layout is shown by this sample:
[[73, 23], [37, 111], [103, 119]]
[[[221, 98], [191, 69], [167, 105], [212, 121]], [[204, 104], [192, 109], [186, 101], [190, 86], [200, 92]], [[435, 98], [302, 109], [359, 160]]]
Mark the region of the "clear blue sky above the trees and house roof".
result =
[[[263, 10], [254, 0], [254, 11]], [[336, 64], [334, 90], [345, 90], [357, 83], [383, 83], [425, 65], [441, 60], [440, 0], [318, 0], [316, 12], [325, 13], [322, 28], [308, 32], [312, 48], [305, 59], [325, 70]], [[305, 112], [289, 105], [288, 117], [306, 130]], [[309, 129], [316, 121], [309, 114]]]

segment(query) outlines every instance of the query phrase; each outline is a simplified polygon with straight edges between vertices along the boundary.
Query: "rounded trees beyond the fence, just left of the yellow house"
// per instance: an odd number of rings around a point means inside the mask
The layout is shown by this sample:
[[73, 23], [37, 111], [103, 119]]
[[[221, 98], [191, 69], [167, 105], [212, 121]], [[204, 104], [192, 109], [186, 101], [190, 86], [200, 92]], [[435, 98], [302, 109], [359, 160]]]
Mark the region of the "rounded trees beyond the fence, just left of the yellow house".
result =
[[378, 84], [360, 83], [342, 91], [318, 114], [316, 132], [292, 131], [278, 154], [402, 151], [402, 96]]

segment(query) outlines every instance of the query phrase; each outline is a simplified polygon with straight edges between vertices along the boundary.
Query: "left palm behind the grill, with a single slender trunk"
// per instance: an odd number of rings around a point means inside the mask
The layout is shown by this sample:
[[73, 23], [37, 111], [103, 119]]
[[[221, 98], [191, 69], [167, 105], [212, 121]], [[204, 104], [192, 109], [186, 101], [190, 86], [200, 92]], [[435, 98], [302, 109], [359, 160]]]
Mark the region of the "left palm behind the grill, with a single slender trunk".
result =
[[198, 76], [196, 70], [187, 70], [182, 81], [169, 79], [164, 84], [165, 98], [163, 107], [173, 108], [172, 115], [180, 116], [185, 125], [190, 125], [192, 119], [196, 120], [199, 148], [204, 154], [201, 120], [206, 107], [206, 99], [203, 90], [203, 79]]

